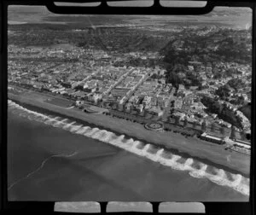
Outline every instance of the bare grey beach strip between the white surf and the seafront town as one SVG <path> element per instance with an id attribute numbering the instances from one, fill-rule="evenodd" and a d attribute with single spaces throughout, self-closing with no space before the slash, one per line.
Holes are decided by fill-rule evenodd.
<path id="1" fill-rule="evenodd" d="M 143 125 L 123 119 L 117 120 L 103 114 L 83 113 L 73 108 L 61 108 L 53 104 L 40 102 L 37 99 L 30 99 L 26 95 L 17 96 L 9 93 L 8 97 L 20 105 L 38 109 L 41 113 L 42 111 L 53 113 L 56 116 L 73 119 L 81 124 L 86 123 L 92 127 L 97 126 L 100 129 L 112 131 L 117 135 L 125 135 L 127 139 L 134 138 L 144 143 L 148 142 L 157 148 L 165 148 L 174 154 L 181 155 L 183 158 L 192 158 L 230 173 L 241 174 L 244 177 L 249 177 L 250 174 L 249 158 L 245 158 L 241 154 L 227 152 L 215 143 L 204 142 L 195 137 L 183 137 L 181 134 L 172 132 L 148 131 Z M 233 161 L 226 160 L 226 156 L 232 156 L 231 160 Z"/>

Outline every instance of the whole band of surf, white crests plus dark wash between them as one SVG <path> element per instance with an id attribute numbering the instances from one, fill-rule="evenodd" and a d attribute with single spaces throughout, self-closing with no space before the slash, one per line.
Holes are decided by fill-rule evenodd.
<path id="1" fill-rule="evenodd" d="M 173 170 L 188 171 L 191 177 L 205 178 L 212 181 L 212 183 L 235 189 L 243 195 L 249 195 L 249 178 L 243 177 L 241 174 L 233 174 L 223 169 L 209 166 L 193 158 L 183 159 L 179 154 L 173 154 L 166 150 L 166 148 L 156 148 L 154 144 L 127 138 L 125 135 L 117 135 L 116 133 L 102 130 L 98 127 L 84 126 L 78 124 L 75 120 L 38 113 L 10 100 L 8 105 L 9 110 L 27 119 L 58 127 L 76 135 L 83 135 L 101 142 L 106 142 L 115 147 L 123 148 L 132 154 L 137 154 L 148 160 L 158 162 L 162 166 L 170 167 Z"/>

